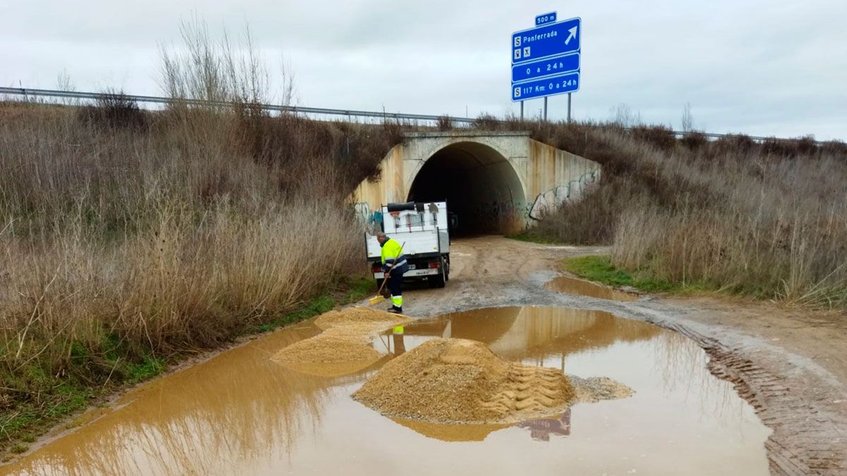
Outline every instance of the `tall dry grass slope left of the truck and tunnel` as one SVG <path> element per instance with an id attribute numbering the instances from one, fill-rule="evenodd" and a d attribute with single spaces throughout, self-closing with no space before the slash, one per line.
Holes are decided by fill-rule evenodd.
<path id="1" fill-rule="evenodd" d="M 0 452 L 362 273 L 346 196 L 396 125 L 271 117 L 249 55 L 197 45 L 222 69 L 171 58 L 165 89 L 235 106 L 0 102 Z"/>

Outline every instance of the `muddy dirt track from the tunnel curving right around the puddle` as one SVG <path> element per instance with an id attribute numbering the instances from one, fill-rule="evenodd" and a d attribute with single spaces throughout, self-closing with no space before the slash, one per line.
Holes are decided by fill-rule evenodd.
<path id="1" fill-rule="evenodd" d="M 454 241 L 446 288 L 407 291 L 404 310 L 425 317 L 473 307 L 584 307 L 675 329 L 710 354 L 712 373 L 733 382 L 773 429 L 772 473 L 847 473 L 847 314 L 701 297 L 609 302 L 543 287 L 562 258 L 602 251 L 495 236 Z"/>

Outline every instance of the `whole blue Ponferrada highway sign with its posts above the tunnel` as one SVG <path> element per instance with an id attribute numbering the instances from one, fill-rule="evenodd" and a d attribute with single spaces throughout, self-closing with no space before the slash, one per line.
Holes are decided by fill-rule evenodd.
<path id="1" fill-rule="evenodd" d="M 512 101 L 523 102 L 567 93 L 567 120 L 571 94 L 579 91 L 582 19 L 556 21 L 556 12 L 535 17 L 535 27 L 512 33 Z"/>

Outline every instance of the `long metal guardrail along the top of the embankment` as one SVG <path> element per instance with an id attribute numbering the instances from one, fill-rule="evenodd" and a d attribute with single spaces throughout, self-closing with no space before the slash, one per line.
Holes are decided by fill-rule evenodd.
<path id="1" fill-rule="evenodd" d="M 30 89 L 24 87 L 0 87 L 0 94 L 14 94 L 17 96 L 24 97 L 67 97 L 71 99 L 108 99 L 110 97 L 115 97 L 119 95 L 121 97 L 126 97 L 135 102 L 142 103 L 151 103 L 151 104 L 169 104 L 173 102 L 181 102 L 185 104 L 191 105 L 206 105 L 206 106 L 231 106 L 232 102 L 213 102 L 213 101 L 204 101 L 200 99 L 174 99 L 171 97 L 157 97 L 157 96 L 137 96 L 134 94 L 124 94 L 121 92 L 118 93 L 109 93 L 109 92 L 77 92 L 77 91 L 58 91 L 53 89 Z M 306 114 L 326 114 L 326 115 L 335 115 L 335 116 L 346 116 L 347 118 L 352 117 L 362 117 L 362 118 L 379 118 L 379 119 L 407 119 L 407 120 L 422 120 L 422 121 L 438 121 L 440 119 L 450 119 L 453 124 L 464 124 L 471 125 L 476 119 L 473 118 L 462 118 L 462 117 L 454 117 L 454 116 L 444 116 L 444 115 L 430 115 L 430 114 L 407 114 L 407 113 L 387 113 L 387 112 L 376 112 L 376 111 L 358 111 L 354 109 L 329 109 L 329 108 L 306 108 L 302 106 L 285 106 L 281 104 L 260 104 L 260 107 L 266 111 L 279 111 L 285 113 L 306 113 Z M 624 128 L 624 130 L 633 130 L 633 128 L 628 127 Z M 673 135 L 677 137 L 684 137 L 689 132 L 683 130 L 673 130 Z M 739 134 L 715 134 L 711 132 L 700 132 L 699 134 L 710 138 L 710 139 L 719 139 L 721 137 L 733 137 L 739 136 Z M 746 135 L 745 135 L 746 136 Z M 773 139 L 778 139 L 779 141 L 800 141 L 801 139 L 791 138 L 791 139 L 779 139 L 776 137 L 763 137 L 763 136 L 746 136 L 749 137 L 753 141 L 769 141 Z M 814 141 L 816 144 L 823 144 L 823 141 Z"/>

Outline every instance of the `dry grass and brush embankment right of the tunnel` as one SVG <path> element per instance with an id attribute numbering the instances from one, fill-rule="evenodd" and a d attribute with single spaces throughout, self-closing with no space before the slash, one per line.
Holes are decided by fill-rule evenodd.
<path id="1" fill-rule="evenodd" d="M 810 137 L 673 139 L 666 127 L 521 123 L 602 164 L 601 183 L 529 235 L 612 244 L 622 268 L 813 307 L 847 306 L 847 146 Z"/>

